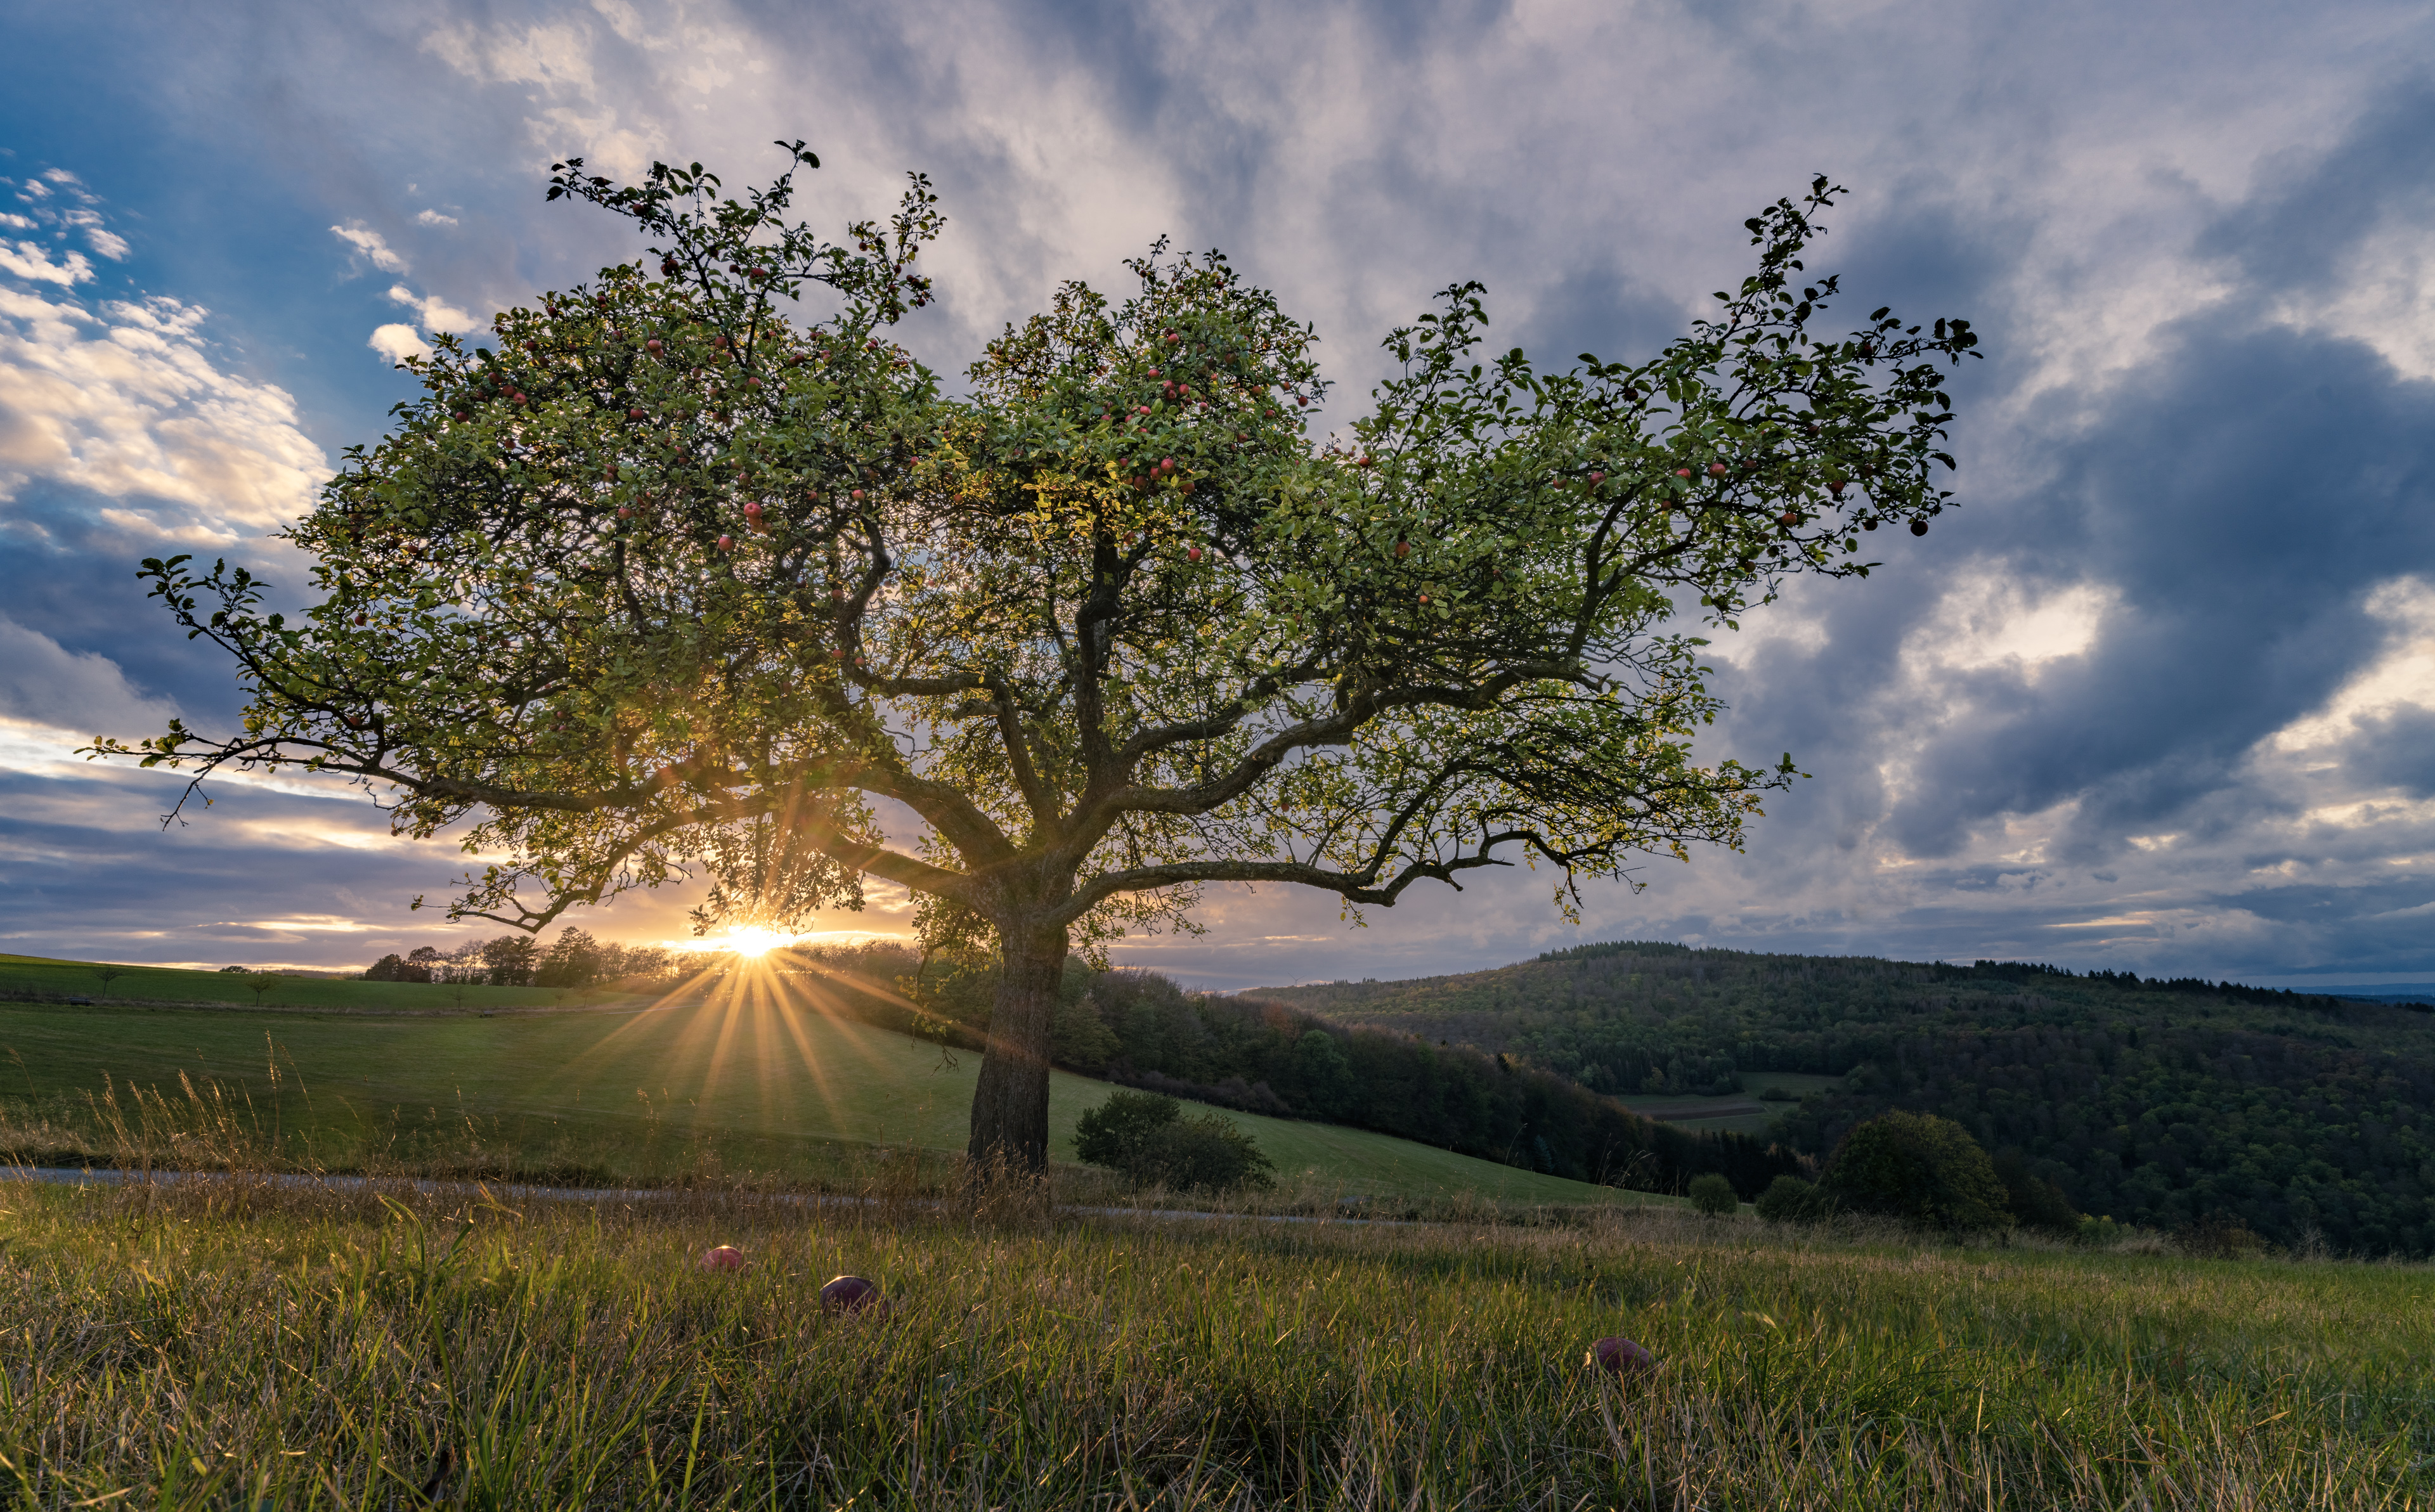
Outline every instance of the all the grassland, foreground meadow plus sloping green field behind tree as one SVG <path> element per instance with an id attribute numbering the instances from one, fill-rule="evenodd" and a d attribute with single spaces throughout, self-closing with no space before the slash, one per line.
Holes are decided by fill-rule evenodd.
<path id="1" fill-rule="evenodd" d="M 12 1159 L 209 1171 L 0 1188 L 7 1505 L 2435 1497 L 2425 1266 L 1778 1227 L 1249 1115 L 1281 1183 L 1227 1213 L 1071 1164 L 974 1195 L 976 1057 L 801 981 L 314 986 L 377 996 L 0 1003 Z M 1057 1076 L 1062 1161 L 1105 1091 Z M 835 1273 L 886 1312 L 823 1317 Z M 1585 1366 L 1607 1334 L 1658 1368 Z"/>

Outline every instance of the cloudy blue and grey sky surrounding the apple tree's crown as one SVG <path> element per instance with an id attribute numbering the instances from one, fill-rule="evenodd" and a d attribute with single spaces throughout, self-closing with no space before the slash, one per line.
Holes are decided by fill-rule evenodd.
<path id="1" fill-rule="evenodd" d="M 1700 755 L 1812 777 L 1748 847 L 1575 925 L 1500 874 L 1339 918 L 1213 889 L 1120 959 L 1210 989 L 1463 971 L 1583 940 L 2041 959 L 2282 986 L 2435 976 L 2435 7 L 869 0 L 0 2 L 0 950 L 360 967 L 472 930 L 455 842 L 363 794 L 73 755 L 226 728 L 144 558 L 275 533 L 433 329 L 638 251 L 545 205 L 823 161 L 937 183 L 959 373 L 1166 234 L 1317 326 L 1332 419 L 1449 282 L 1500 343 L 1644 358 L 1829 173 L 1846 314 L 1960 314 L 1960 509 L 1714 650 Z M 682 889 L 577 918 L 682 940 Z M 903 933 L 874 896 L 823 933 Z M 489 933 L 489 930 L 485 930 Z M 828 937 L 828 935 L 823 935 Z"/>

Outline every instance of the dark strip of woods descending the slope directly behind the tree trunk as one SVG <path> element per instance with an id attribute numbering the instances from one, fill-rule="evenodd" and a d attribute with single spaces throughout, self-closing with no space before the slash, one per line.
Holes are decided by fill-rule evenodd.
<path id="1" fill-rule="evenodd" d="M 886 947 L 782 952 L 772 962 L 808 979 L 813 1001 L 950 1047 L 976 1047 L 989 1025 L 986 962 L 923 964 Z M 1687 1135 L 1515 1057 L 1347 1027 L 1283 1003 L 1186 993 L 1152 971 L 1069 964 L 1054 1059 L 1123 1086 L 1342 1122 L 1605 1186 L 1683 1191 L 1717 1171 L 1751 1198 L 1804 1169 L 1763 1139 Z"/>

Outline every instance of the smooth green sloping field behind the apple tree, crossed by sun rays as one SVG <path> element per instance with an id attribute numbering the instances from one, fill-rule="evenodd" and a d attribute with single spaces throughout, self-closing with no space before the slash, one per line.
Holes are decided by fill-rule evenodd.
<path id="1" fill-rule="evenodd" d="M 90 1154 L 88 1093 L 134 1086 L 170 1093 L 168 1105 L 144 1103 L 153 1118 L 146 1152 L 170 1164 L 823 1183 L 860 1178 L 872 1149 L 962 1149 L 976 1069 L 969 1052 L 947 1057 L 935 1045 L 782 1006 L 772 979 L 752 976 L 670 1008 L 497 1018 L 0 1003 L 0 1103 L 15 1105 L 0 1142 L 24 1159 Z M 212 1113 L 185 1096 L 180 1076 L 246 1105 Z M 1108 1091 L 1054 1074 L 1057 1159 L 1071 1159 L 1074 1120 Z M 122 1091 L 117 1105 L 141 1132 L 136 1101 Z M 1429 1203 L 1461 1193 L 1502 1203 L 1624 1200 L 1364 1130 L 1227 1118 L 1259 1139 L 1305 1203 Z M 224 1127 L 229 1120 L 244 1127 Z M 205 1132 L 207 1122 L 217 1132 Z M 229 1149 L 214 1149 L 214 1137 Z"/>

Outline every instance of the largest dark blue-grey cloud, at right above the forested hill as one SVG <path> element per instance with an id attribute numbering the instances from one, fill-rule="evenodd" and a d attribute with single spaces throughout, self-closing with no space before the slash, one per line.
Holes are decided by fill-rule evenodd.
<path id="1" fill-rule="evenodd" d="M 1982 679 L 1897 818 L 1919 855 L 2075 796 L 2087 859 L 2167 823 L 2384 648 L 2374 584 L 2435 567 L 2435 385 L 2350 341 L 2174 331 L 2060 446 L 2055 485 L 2004 506 L 2011 560 L 2101 575 L 2118 609 L 2036 687 Z"/>

